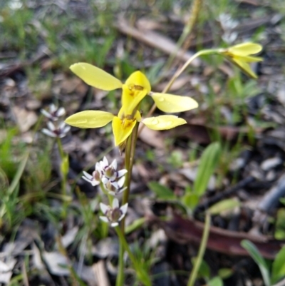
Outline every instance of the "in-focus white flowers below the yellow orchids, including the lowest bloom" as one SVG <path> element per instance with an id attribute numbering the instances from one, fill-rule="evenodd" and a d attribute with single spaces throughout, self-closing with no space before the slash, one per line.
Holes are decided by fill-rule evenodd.
<path id="1" fill-rule="evenodd" d="M 128 172 L 125 169 L 117 170 L 117 168 L 117 160 L 113 160 L 113 162 L 109 164 L 107 158 L 104 157 L 102 161 L 96 163 L 92 175 L 83 171 L 82 178 L 93 186 L 102 183 L 103 189 L 108 195 L 115 196 L 126 189 L 126 187 L 124 187 L 125 173 Z M 127 213 L 128 203 L 120 207 L 118 199 L 113 198 L 112 206 L 100 203 L 100 209 L 104 214 L 104 216 L 100 216 L 100 219 L 115 227 Z"/>

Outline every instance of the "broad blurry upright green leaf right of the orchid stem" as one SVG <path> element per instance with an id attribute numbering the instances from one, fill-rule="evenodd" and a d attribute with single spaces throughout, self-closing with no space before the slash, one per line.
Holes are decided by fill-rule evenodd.
<path id="1" fill-rule="evenodd" d="M 221 146 L 219 142 L 214 142 L 207 146 L 200 159 L 197 178 L 194 183 L 194 191 L 197 195 L 201 196 L 207 189 L 209 178 L 214 173 L 214 169 L 219 163 L 221 156 Z"/>

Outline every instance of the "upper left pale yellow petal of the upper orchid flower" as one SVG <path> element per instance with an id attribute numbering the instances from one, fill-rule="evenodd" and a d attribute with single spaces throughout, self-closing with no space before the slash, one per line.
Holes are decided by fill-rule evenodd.
<path id="1" fill-rule="evenodd" d="M 71 66 L 71 71 L 90 86 L 103 89 L 103 91 L 113 91 L 122 87 L 122 83 L 118 78 L 89 63 L 74 63 Z"/>

